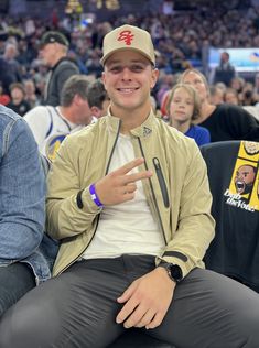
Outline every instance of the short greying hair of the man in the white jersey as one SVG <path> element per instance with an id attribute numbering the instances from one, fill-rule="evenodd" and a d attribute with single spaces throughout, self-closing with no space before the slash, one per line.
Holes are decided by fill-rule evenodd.
<path id="1" fill-rule="evenodd" d="M 69 107 L 75 95 L 78 95 L 84 100 L 88 100 L 89 80 L 86 75 L 73 75 L 64 84 L 61 93 L 61 106 Z"/>

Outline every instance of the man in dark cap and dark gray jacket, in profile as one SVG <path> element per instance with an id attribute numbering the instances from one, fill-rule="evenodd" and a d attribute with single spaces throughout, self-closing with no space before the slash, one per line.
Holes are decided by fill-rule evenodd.
<path id="1" fill-rule="evenodd" d="M 61 90 L 65 81 L 79 74 L 74 61 L 67 57 L 68 40 L 60 32 L 46 32 L 40 43 L 40 57 L 50 67 L 44 91 L 44 105 L 56 107 L 61 104 Z"/>

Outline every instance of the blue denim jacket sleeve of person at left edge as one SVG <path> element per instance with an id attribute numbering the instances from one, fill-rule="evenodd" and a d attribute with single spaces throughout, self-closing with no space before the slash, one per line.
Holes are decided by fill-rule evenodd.
<path id="1" fill-rule="evenodd" d="M 39 247 L 45 222 L 45 177 L 22 119 L 6 128 L 0 163 L 0 259 L 21 260 Z"/>

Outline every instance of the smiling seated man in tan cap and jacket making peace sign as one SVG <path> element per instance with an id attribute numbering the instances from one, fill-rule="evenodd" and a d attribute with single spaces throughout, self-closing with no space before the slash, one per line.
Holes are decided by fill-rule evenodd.
<path id="1" fill-rule="evenodd" d="M 258 348 L 258 294 L 204 269 L 206 166 L 152 111 L 150 34 L 116 28 L 102 51 L 108 115 L 67 137 L 48 174 L 54 278 L 7 312 L 0 347 L 108 347 L 134 327 L 176 347 Z"/>

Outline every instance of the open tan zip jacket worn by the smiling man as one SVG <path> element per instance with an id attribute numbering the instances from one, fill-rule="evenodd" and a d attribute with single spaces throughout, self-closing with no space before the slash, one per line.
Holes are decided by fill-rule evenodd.
<path id="1" fill-rule="evenodd" d="M 107 174 L 119 127 L 118 118 L 104 117 L 68 135 L 57 152 L 46 203 L 47 232 L 61 240 L 53 275 L 80 259 L 95 235 L 101 208 L 91 200 L 89 185 Z M 179 264 L 185 276 L 204 267 L 202 259 L 214 237 L 204 160 L 192 139 L 152 112 L 131 138 L 136 157 L 145 159 L 142 170 L 153 172 L 143 188 L 166 246 L 157 264 L 161 259 Z"/>

